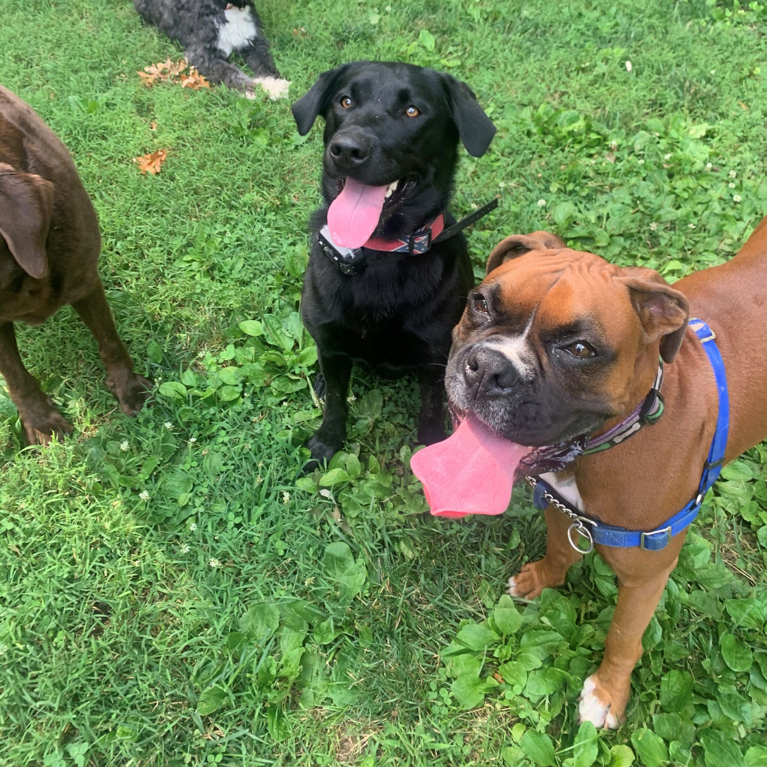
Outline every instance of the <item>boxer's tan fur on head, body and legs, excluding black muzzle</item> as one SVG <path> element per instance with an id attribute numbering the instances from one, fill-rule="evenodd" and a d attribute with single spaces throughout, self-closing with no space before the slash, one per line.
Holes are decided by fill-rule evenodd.
<path id="1" fill-rule="evenodd" d="M 612 416 L 594 430 L 600 433 L 619 423 L 647 395 L 660 351 L 673 360 L 665 366 L 666 407 L 660 420 L 611 449 L 581 456 L 555 477 L 570 498 L 580 496 L 588 515 L 608 525 L 644 531 L 659 527 L 696 495 L 718 412 L 713 370 L 686 325 L 688 301 L 690 316 L 705 320 L 715 331 L 726 366 L 731 407 L 726 461 L 767 438 L 765 222 L 731 261 L 683 278 L 673 288 L 649 269 L 610 265 L 596 255 L 565 248 L 546 232 L 507 238 L 492 253 L 490 273 L 476 294 L 494 302 L 487 306 L 496 313 L 492 327 L 479 327 L 470 297 L 454 332 L 446 377 L 450 396 L 461 390 L 459 353 L 478 339 L 503 334 L 509 324 L 518 332 L 525 318 L 535 314 L 531 343 L 546 367 L 550 355 L 540 344 L 547 333 L 588 318 L 597 346 L 600 339 L 611 344 L 614 360 L 596 376 L 582 374 L 568 382 L 575 386 L 573 382 L 580 381 L 585 397 L 601 399 L 605 415 Z M 476 295 L 473 300 L 480 300 Z M 513 430 L 504 436 L 514 439 Z M 511 594 L 532 599 L 544 588 L 559 586 L 580 558 L 568 543 L 571 521 L 551 506 L 545 518 L 546 555 L 510 579 Z M 618 597 L 601 666 L 581 693 L 582 720 L 617 727 L 624 719 L 631 671 L 642 654 L 642 634 L 684 538 L 685 532 L 676 535 L 662 551 L 597 546 L 617 574 Z"/>

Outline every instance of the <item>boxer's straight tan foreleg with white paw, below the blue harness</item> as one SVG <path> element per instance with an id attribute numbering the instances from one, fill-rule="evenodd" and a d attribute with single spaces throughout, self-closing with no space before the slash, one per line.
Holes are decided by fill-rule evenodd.
<path id="1" fill-rule="evenodd" d="M 682 537 L 684 537 L 682 535 Z M 618 600 L 610 630 L 604 640 L 604 657 L 600 667 L 584 682 L 578 714 L 582 722 L 596 727 L 617 729 L 625 719 L 631 690 L 631 672 L 642 657 L 642 635 L 652 620 L 669 574 L 676 565 L 680 545 L 670 552 L 673 560 L 661 551 L 612 549 L 600 554 L 618 575 Z M 671 546 L 669 548 L 672 548 Z M 610 552 L 610 553 L 608 553 Z M 614 560 L 620 552 L 630 568 L 624 570 Z M 631 559 L 634 561 L 630 561 Z"/>

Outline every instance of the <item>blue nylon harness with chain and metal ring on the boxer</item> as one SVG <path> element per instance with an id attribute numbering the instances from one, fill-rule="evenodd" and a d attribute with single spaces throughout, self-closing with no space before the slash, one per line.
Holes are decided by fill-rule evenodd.
<path id="1" fill-rule="evenodd" d="M 546 509 L 549 505 L 564 512 L 574 519 L 568 531 L 570 543 L 577 551 L 588 553 L 594 548 L 594 544 L 612 546 L 614 548 L 644 548 L 647 551 L 660 551 L 666 548 L 671 538 L 688 527 L 700 511 L 700 505 L 709 488 L 716 482 L 719 472 L 724 463 L 724 454 L 727 446 L 727 433 L 729 431 L 729 396 L 727 393 L 727 376 L 724 368 L 722 355 L 716 346 L 716 334 L 709 326 L 699 319 L 690 319 L 690 328 L 703 344 L 703 349 L 709 357 L 716 378 L 716 391 L 719 395 L 719 413 L 716 417 L 716 431 L 711 440 L 711 447 L 706 463 L 703 464 L 703 474 L 700 477 L 698 493 L 684 509 L 673 515 L 659 528 L 650 532 L 640 530 L 627 530 L 626 528 L 605 525 L 597 519 L 585 515 L 561 498 L 560 495 L 544 480 L 528 478 L 533 485 L 533 502 L 538 509 Z M 588 525 L 588 527 L 587 527 Z M 588 549 L 583 549 L 571 537 L 572 531 L 578 532 L 590 542 Z"/>

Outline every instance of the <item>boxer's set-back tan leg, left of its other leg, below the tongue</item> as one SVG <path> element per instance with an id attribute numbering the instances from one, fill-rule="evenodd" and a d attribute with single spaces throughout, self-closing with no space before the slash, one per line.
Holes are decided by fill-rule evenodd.
<path id="1" fill-rule="evenodd" d="M 572 520 L 554 506 L 549 506 L 544 515 L 546 555 L 543 559 L 522 565 L 522 570 L 509 578 L 506 593 L 512 597 L 535 599 L 545 588 L 561 586 L 565 583 L 568 569 L 581 559 L 568 540 Z"/>

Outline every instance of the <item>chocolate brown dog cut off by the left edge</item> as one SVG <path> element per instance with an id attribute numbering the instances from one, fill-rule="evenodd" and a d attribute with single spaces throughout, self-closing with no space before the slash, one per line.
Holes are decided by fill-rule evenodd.
<path id="1" fill-rule="evenodd" d="M 13 323 L 38 325 L 72 304 L 94 334 L 124 413 L 152 384 L 133 373 L 97 272 L 96 212 L 64 145 L 27 104 L 0 86 L 0 374 L 28 442 L 72 427 L 21 362 Z"/>

